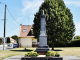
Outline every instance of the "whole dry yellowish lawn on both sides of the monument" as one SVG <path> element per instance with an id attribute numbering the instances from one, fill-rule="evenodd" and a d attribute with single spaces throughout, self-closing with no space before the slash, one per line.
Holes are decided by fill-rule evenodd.
<path id="1" fill-rule="evenodd" d="M 36 48 L 26 48 L 30 50 L 35 50 Z M 50 48 L 51 49 L 51 48 Z M 15 48 L 12 50 L 0 51 L 0 60 L 3 60 L 6 57 L 14 56 L 14 55 L 25 55 L 30 50 L 24 51 L 24 48 Z M 55 51 L 59 51 L 61 56 L 78 56 L 80 57 L 80 47 L 57 47 L 54 48 Z"/>

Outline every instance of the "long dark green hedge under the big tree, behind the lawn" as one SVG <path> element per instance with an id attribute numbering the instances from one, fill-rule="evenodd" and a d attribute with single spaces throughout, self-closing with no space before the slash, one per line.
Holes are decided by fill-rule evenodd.
<path id="1" fill-rule="evenodd" d="M 52 42 L 48 42 L 49 47 L 52 47 Z M 80 47 L 80 39 L 71 40 L 67 43 L 61 43 L 56 41 L 54 47 Z"/>

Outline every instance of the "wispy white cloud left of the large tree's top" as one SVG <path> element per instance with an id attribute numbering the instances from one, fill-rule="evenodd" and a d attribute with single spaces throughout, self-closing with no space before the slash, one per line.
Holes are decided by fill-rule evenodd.
<path id="1" fill-rule="evenodd" d="M 18 17 L 16 21 L 19 22 L 22 19 L 26 20 L 26 17 L 29 17 L 29 19 L 32 18 L 32 21 L 34 18 L 34 14 L 38 11 L 39 6 L 42 2 L 43 0 L 22 0 L 23 8 L 20 9 L 20 17 Z"/>

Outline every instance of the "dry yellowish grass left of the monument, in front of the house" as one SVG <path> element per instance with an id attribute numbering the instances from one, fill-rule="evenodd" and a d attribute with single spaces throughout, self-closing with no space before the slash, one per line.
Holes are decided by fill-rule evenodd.
<path id="1" fill-rule="evenodd" d="M 36 48 L 28 48 L 30 50 L 35 50 Z M 12 50 L 0 51 L 0 60 L 3 60 L 6 57 L 14 56 L 14 55 L 25 55 L 29 51 L 24 51 L 24 48 L 16 48 Z"/>

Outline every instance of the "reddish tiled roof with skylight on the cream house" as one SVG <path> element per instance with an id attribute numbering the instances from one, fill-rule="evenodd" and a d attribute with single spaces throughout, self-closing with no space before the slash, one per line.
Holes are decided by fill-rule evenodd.
<path id="1" fill-rule="evenodd" d="M 32 25 L 20 25 L 20 35 L 19 35 L 19 37 L 32 36 L 31 35 L 31 28 L 32 28 Z"/>

